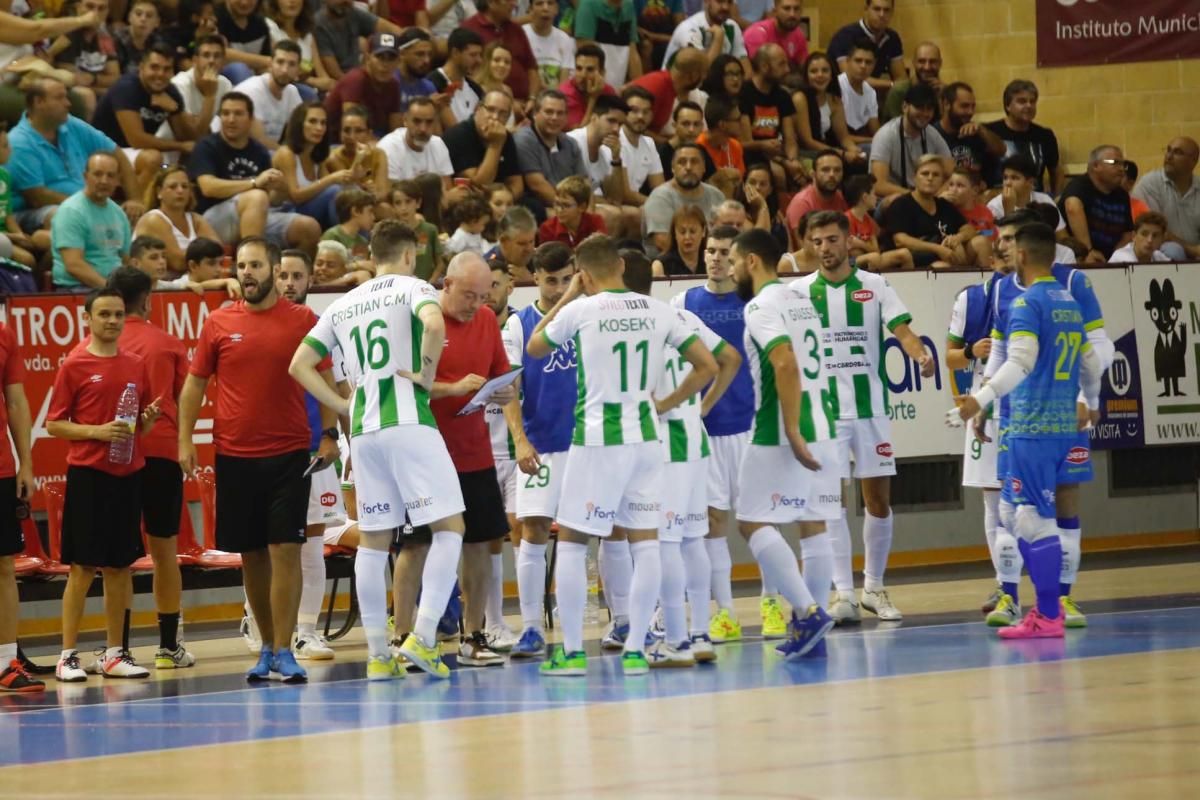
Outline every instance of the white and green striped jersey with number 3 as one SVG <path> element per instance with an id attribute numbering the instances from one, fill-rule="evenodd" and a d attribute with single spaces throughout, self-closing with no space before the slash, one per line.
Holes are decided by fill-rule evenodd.
<path id="1" fill-rule="evenodd" d="M 785 287 L 779 281 L 768 283 L 746 303 L 745 319 L 755 399 L 750 444 L 787 444 L 775 368 L 769 357 L 781 344 L 791 345 L 800 371 L 800 435 L 805 441 L 833 439 L 833 398 L 821 356 L 821 319 L 803 289 Z"/>

